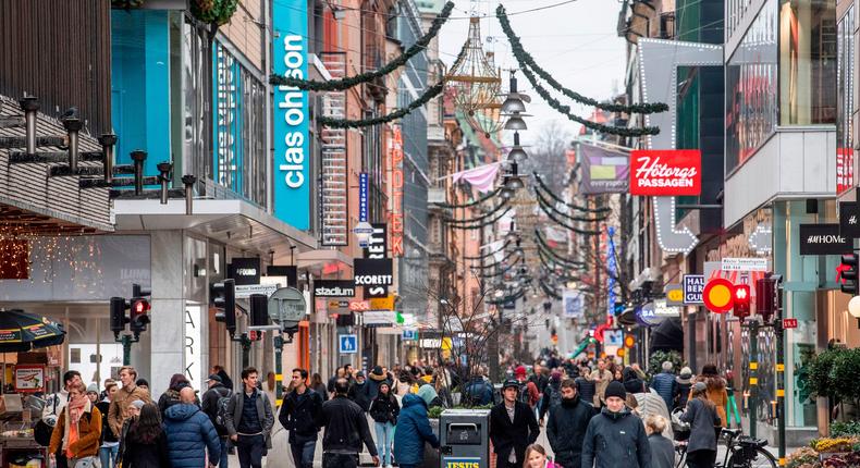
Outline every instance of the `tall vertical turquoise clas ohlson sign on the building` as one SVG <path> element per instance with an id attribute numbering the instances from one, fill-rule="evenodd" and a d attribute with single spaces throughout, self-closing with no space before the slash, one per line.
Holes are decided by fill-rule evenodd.
<path id="1" fill-rule="evenodd" d="M 279 75 L 308 75 L 306 0 L 272 3 L 274 57 Z M 299 230 L 310 227 L 308 94 L 292 86 L 274 89 L 274 215 Z"/>

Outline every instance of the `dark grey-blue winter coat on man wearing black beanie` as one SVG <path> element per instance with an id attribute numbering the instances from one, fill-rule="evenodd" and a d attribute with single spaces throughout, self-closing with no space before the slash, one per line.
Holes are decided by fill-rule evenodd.
<path id="1" fill-rule="evenodd" d="M 582 443 L 581 468 L 651 468 L 651 446 L 644 424 L 624 408 L 603 408 L 591 418 Z"/>

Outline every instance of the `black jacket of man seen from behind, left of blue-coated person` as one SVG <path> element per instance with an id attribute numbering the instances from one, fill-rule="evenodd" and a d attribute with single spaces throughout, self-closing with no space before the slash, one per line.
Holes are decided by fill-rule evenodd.
<path id="1" fill-rule="evenodd" d="M 361 452 L 364 442 L 371 456 L 378 455 L 365 411 L 344 395 L 334 395 L 334 398 L 322 404 L 317 426 L 325 428 L 322 435 L 323 451 L 357 454 Z"/>

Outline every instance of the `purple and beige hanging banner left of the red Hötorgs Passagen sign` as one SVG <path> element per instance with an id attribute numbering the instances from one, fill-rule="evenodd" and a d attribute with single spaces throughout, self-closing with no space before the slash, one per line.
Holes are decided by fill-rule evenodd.
<path id="1" fill-rule="evenodd" d="M 579 193 L 626 194 L 629 187 L 630 160 L 627 155 L 591 145 L 579 145 L 582 180 Z"/>

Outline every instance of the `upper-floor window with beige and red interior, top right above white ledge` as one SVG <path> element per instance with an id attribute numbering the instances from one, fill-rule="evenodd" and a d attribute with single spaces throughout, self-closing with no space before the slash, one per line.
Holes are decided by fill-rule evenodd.
<path id="1" fill-rule="evenodd" d="M 779 123 L 836 122 L 836 1 L 779 2 Z"/>

